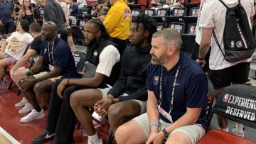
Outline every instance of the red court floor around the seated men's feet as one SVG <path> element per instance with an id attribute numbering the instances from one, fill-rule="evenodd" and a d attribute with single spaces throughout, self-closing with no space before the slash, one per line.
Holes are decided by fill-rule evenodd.
<path id="1" fill-rule="evenodd" d="M 14 137 L 19 143 L 29 144 L 31 139 L 35 138 L 43 132 L 43 128 L 46 124 L 46 118 L 41 118 L 28 123 L 20 123 L 20 119 L 24 115 L 18 114 L 18 110 L 21 108 L 16 108 L 14 104 L 21 101 L 21 96 L 16 96 L 17 87 L 15 84 L 12 85 L 10 90 L 0 90 L 0 127 Z M 48 111 L 45 111 L 46 116 Z M 107 143 L 109 125 L 99 126 L 97 128 L 97 133 L 102 138 L 104 143 Z M 53 143 L 48 142 L 46 144 Z M 82 136 L 81 129 L 75 130 L 74 133 L 74 143 L 75 144 L 86 144 L 87 137 Z"/>

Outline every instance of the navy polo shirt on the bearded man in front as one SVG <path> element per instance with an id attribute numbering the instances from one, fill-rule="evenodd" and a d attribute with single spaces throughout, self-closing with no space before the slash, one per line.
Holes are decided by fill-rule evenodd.
<path id="1" fill-rule="evenodd" d="M 183 53 L 174 68 L 167 71 L 161 65 L 153 65 L 149 63 L 147 71 L 147 84 L 148 90 L 154 92 L 156 99 L 159 101 L 159 84 L 160 77 L 162 77 L 162 102 L 161 108 L 167 113 L 170 110 L 171 92 L 174 84 L 174 76 L 179 68 L 178 77 L 174 87 L 174 108 L 171 111 L 173 122 L 186 113 L 186 108 L 201 107 L 202 111 L 198 121 L 204 128 L 206 128 L 206 106 L 207 106 L 207 93 L 208 81 L 205 72 L 197 62 L 186 57 Z M 161 76 L 161 70 L 163 74 Z M 171 123 L 168 119 L 160 113 L 160 118 L 167 123 Z"/>

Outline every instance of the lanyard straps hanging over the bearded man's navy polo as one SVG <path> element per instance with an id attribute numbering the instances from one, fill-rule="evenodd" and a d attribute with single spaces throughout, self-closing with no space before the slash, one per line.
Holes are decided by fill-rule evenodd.
<path id="1" fill-rule="evenodd" d="M 171 91 L 171 105 L 170 105 L 169 114 L 171 113 L 171 110 L 174 107 L 174 90 L 175 90 L 175 85 L 176 85 L 176 81 L 178 78 L 178 72 L 179 72 L 180 68 L 181 68 L 181 66 L 178 66 L 178 69 L 176 70 L 176 74 L 174 75 L 174 82 L 172 84 L 172 91 Z M 161 67 L 160 84 L 159 84 L 159 106 L 161 106 L 161 102 L 162 102 L 162 76 L 163 76 L 163 68 Z"/>

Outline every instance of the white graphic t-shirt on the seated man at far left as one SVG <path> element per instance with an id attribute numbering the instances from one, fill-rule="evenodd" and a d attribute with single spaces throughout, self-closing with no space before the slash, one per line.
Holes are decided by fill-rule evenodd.
<path id="1" fill-rule="evenodd" d="M 8 45 L 5 48 L 5 52 L 16 60 L 19 60 L 28 45 L 31 45 L 33 37 L 29 33 L 18 33 L 18 31 L 11 33 L 11 35 L 6 39 Z"/>

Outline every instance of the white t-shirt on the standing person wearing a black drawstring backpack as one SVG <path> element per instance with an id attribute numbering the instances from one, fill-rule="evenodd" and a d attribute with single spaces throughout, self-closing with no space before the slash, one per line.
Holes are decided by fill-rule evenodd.
<path id="1" fill-rule="evenodd" d="M 233 7 L 238 4 L 238 0 L 223 0 L 223 2 L 228 7 Z M 250 16 L 253 16 L 254 5 L 253 0 L 241 0 L 241 5 L 245 9 L 248 17 L 248 21 L 250 21 Z M 226 8 L 223 4 L 218 0 L 207 0 L 205 4 L 203 4 L 203 9 L 201 11 L 201 18 L 199 22 L 199 27 L 201 28 L 213 28 L 215 34 L 217 36 L 218 42 L 220 43 L 220 47 L 223 49 L 223 32 L 225 26 L 225 13 Z M 202 35 L 203 36 L 203 35 Z M 224 51 L 224 49 L 223 49 Z M 210 70 L 222 70 L 227 67 L 231 67 L 240 62 L 250 62 L 251 58 L 240 60 L 238 62 L 230 63 L 226 61 L 223 57 L 223 54 L 218 48 L 218 45 L 215 42 L 215 39 L 211 38 L 211 50 L 210 50 L 210 59 L 209 59 L 209 67 Z"/>

